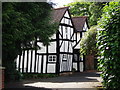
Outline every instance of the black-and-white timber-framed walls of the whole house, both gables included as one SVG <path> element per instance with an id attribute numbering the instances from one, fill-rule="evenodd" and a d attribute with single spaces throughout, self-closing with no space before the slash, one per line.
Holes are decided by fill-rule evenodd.
<path id="1" fill-rule="evenodd" d="M 18 55 L 16 63 L 20 72 L 59 74 L 71 72 L 73 68 L 83 71 L 83 68 L 80 68 L 83 64 L 79 62 L 78 51 L 84 32 L 75 30 L 68 7 L 55 9 L 54 12 L 59 12 L 53 17 L 55 20 L 59 19 L 59 30 L 51 37 L 50 45 L 44 46 L 37 39 L 36 44 L 41 49 L 23 50 L 22 55 Z M 83 29 L 88 29 L 86 22 L 84 24 Z"/>

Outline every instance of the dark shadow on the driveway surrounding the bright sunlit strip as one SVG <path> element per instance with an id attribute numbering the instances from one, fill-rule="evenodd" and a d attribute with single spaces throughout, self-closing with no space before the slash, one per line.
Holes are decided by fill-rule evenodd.
<path id="1" fill-rule="evenodd" d="M 23 80 L 21 82 L 9 82 L 5 84 L 4 90 L 52 90 L 50 88 L 44 88 L 44 87 L 33 87 L 33 86 L 24 86 L 24 84 L 29 83 L 37 83 L 37 82 L 43 82 L 43 83 L 71 83 L 71 82 L 99 82 L 97 78 L 99 77 L 99 74 L 96 74 L 96 72 L 84 72 L 84 73 L 74 73 L 71 75 L 66 76 L 59 76 L 54 78 L 46 78 L 46 79 L 32 79 L 32 80 Z M 57 90 L 57 89 L 55 89 Z"/>

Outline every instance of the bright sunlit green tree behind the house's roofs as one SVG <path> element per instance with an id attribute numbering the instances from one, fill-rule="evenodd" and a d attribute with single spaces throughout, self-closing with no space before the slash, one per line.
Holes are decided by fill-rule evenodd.
<path id="1" fill-rule="evenodd" d="M 97 25 L 101 18 L 102 8 L 106 2 L 73 2 L 68 4 L 73 16 L 88 16 L 89 25 Z"/>

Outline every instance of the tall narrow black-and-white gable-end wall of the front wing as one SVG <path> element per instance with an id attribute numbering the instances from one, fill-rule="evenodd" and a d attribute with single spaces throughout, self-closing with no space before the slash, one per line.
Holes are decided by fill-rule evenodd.
<path id="1" fill-rule="evenodd" d="M 68 11 L 60 25 L 60 72 L 72 71 L 74 28 Z"/>

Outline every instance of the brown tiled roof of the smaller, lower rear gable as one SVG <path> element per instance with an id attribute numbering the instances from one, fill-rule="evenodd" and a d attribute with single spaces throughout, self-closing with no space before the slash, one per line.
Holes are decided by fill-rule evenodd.
<path id="1" fill-rule="evenodd" d="M 85 22 L 87 22 L 87 16 L 72 17 L 76 31 L 83 31 Z M 87 22 L 88 26 L 88 22 Z M 88 26 L 89 28 L 89 26 Z"/>

